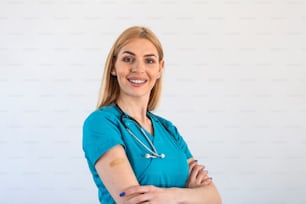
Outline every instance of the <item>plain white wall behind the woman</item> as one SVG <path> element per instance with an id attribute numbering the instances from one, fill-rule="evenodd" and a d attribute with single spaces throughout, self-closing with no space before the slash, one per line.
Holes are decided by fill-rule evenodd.
<path id="1" fill-rule="evenodd" d="M 1 0 L 0 203 L 98 203 L 81 149 L 131 25 L 166 53 L 158 113 L 229 204 L 306 203 L 306 1 Z"/>

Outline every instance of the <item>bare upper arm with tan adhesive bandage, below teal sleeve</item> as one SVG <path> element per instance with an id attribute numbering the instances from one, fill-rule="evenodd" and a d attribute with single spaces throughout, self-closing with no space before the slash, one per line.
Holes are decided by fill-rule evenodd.
<path id="1" fill-rule="evenodd" d="M 95 168 L 116 203 L 124 201 L 124 198 L 119 196 L 122 191 L 130 186 L 139 185 L 121 145 L 114 146 L 100 157 Z"/>

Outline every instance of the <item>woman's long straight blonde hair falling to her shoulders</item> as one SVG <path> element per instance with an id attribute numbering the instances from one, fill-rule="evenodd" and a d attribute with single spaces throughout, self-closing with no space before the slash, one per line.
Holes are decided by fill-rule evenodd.
<path id="1" fill-rule="evenodd" d="M 111 75 L 111 71 L 114 68 L 114 64 L 116 62 L 116 57 L 123 46 L 125 46 L 130 40 L 135 38 L 141 38 L 149 40 L 157 49 L 159 55 L 159 62 L 164 58 L 164 52 L 162 49 L 162 45 L 158 40 L 157 36 L 148 28 L 133 26 L 121 33 L 121 35 L 117 38 L 114 45 L 112 46 L 106 62 L 103 73 L 103 79 L 101 83 L 101 88 L 99 92 L 99 99 L 97 104 L 97 109 L 107 106 L 110 104 L 116 103 L 116 100 L 119 97 L 120 87 L 117 81 L 117 77 Z M 157 79 L 154 87 L 151 90 L 149 102 L 148 102 L 148 110 L 154 110 L 161 96 L 162 89 L 162 77 Z"/>

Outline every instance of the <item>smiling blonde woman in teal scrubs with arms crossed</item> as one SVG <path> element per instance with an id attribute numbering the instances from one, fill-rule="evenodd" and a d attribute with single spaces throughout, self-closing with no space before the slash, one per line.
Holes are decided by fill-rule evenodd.
<path id="1" fill-rule="evenodd" d="M 101 203 L 221 203 L 176 127 L 150 112 L 160 99 L 163 57 L 155 34 L 137 26 L 110 50 L 97 110 L 83 126 Z"/>

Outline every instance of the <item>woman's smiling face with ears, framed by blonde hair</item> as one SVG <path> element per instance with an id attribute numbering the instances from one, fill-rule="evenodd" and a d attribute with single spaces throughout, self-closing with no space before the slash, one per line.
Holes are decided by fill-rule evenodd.
<path id="1" fill-rule="evenodd" d="M 111 74 L 117 77 L 121 99 L 148 100 L 163 69 L 156 47 L 149 40 L 136 38 L 121 48 Z"/>

